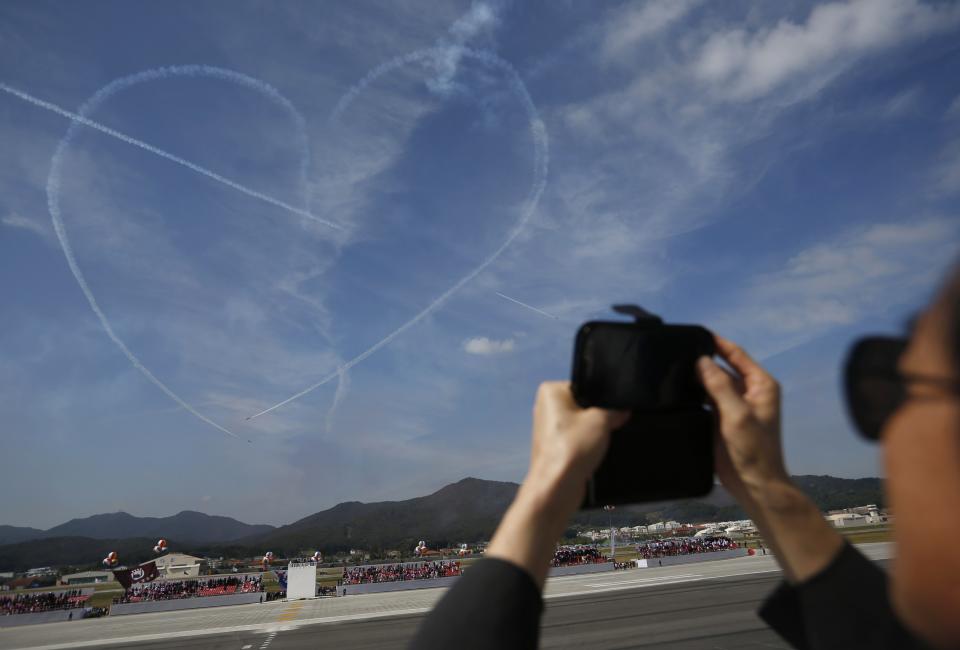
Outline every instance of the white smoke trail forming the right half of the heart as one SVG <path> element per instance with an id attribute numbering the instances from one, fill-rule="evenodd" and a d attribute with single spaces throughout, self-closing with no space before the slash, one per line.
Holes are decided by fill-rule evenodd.
<path id="1" fill-rule="evenodd" d="M 270 406 L 259 413 L 255 413 L 248 417 L 248 420 L 258 418 L 261 415 L 266 415 L 271 411 L 289 404 L 290 402 L 297 400 L 307 393 L 310 393 L 317 388 L 320 388 L 326 383 L 337 378 L 341 370 L 349 370 L 358 363 L 365 360 L 370 355 L 374 354 L 381 348 L 386 345 L 389 345 L 395 338 L 403 334 L 405 331 L 419 323 L 423 320 L 428 314 L 436 310 L 440 305 L 442 305 L 446 300 L 455 294 L 457 291 L 462 289 L 464 285 L 473 280 L 475 277 L 480 275 L 488 266 L 493 264 L 493 262 L 500 257 L 500 255 L 507 249 L 507 247 L 513 243 L 513 240 L 520 235 L 521 231 L 526 227 L 527 223 L 530 221 L 530 218 L 533 216 L 534 211 L 537 209 L 537 204 L 540 202 L 540 196 L 543 194 L 543 190 L 547 185 L 547 167 L 549 165 L 549 150 L 548 150 L 548 141 L 547 141 L 547 130 L 543 124 L 543 121 L 540 119 L 540 115 L 537 112 L 537 108 L 533 103 L 533 99 L 530 97 L 530 93 L 527 90 L 526 85 L 523 83 L 523 79 L 520 78 L 520 75 L 517 73 L 516 69 L 507 61 L 501 59 L 499 56 L 493 52 L 488 52 L 486 50 L 475 50 L 472 48 L 462 47 L 460 55 L 464 58 L 474 59 L 480 63 L 486 64 L 492 68 L 499 69 L 507 75 L 508 82 L 511 89 L 514 91 L 514 94 L 517 96 L 517 99 L 520 101 L 524 110 L 527 113 L 529 118 L 529 128 L 530 135 L 533 139 L 533 181 L 530 185 L 529 193 L 527 198 L 524 201 L 523 208 L 521 209 L 520 218 L 517 220 L 517 223 L 514 224 L 513 228 L 510 230 L 507 238 L 480 264 L 474 267 L 473 270 L 469 271 L 465 276 L 460 278 L 452 287 L 444 291 L 437 298 L 433 300 L 429 305 L 427 305 L 423 310 L 416 314 L 413 318 L 408 320 L 406 323 L 398 327 L 396 330 L 382 338 L 380 341 L 369 347 L 364 352 L 361 352 L 359 355 L 345 363 L 340 367 L 336 372 L 333 372 L 326 377 L 320 379 L 320 381 L 312 384 L 302 391 L 291 395 L 287 399 Z M 346 110 L 346 108 L 353 102 L 354 99 L 374 80 L 378 77 L 395 70 L 403 65 L 407 65 L 412 62 L 417 63 L 432 63 L 436 60 L 438 56 L 445 56 L 449 50 L 449 47 L 443 48 L 426 48 L 423 50 L 417 50 L 403 56 L 399 56 L 395 59 L 391 59 L 386 63 L 378 65 L 376 68 L 371 70 L 367 75 L 361 79 L 357 84 L 350 88 L 344 96 L 337 102 L 336 108 L 334 108 L 333 114 L 330 116 L 331 121 L 335 121 L 339 116 Z"/>

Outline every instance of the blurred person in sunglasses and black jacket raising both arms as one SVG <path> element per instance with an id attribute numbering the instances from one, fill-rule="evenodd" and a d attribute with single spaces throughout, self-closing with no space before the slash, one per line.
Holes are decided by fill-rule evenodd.
<path id="1" fill-rule="evenodd" d="M 861 432 L 882 443 L 897 517 L 889 578 L 790 480 L 776 380 L 743 349 L 716 340 L 730 369 L 704 357 L 698 372 L 718 413 L 717 475 L 784 575 L 761 618 L 796 648 L 960 648 L 960 267 L 909 340 L 874 346 L 867 363 L 858 365 L 856 354 L 848 361 L 848 406 Z M 610 432 L 628 417 L 580 408 L 566 382 L 540 386 L 517 496 L 486 558 L 434 607 L 411 647 L 537 646 L 556 540 Z"/>

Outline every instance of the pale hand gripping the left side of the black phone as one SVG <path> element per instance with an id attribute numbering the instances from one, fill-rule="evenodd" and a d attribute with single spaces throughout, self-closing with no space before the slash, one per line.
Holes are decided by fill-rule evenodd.
<path id="1" fill-rule="evenodd" d="M 540 384 L 533 407 L 533 444 L 528 482 L 557 491 L 563 501 L 579 504 L 587 480 L 603 460 L 610 432 L 623 426 L 628 412 L 581 408 L 573 399 L 570 383 Z M 567 505 L 567 504 L 564 504 Z"/>

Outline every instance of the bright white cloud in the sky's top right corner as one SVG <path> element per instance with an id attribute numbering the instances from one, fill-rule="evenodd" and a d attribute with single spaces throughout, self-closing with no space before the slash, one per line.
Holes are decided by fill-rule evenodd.
<path id="1" fill-rule="evenodd" d="M 727 98 L 749 100 L 800 77 L 822 84 L 861 55 L 949 30 L 958 21 L 956 4 L 834 2 L 814 8 L 802 24 L 782 20 L 756 33 L 735 29 L 714 34 L 694 72 Z"/>

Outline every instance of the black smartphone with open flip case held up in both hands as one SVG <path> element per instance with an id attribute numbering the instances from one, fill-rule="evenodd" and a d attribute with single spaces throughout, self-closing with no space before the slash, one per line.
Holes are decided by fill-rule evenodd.
<path id="1" fill-rule="evenodd" d="M 715 352 L 707 329 L 666 325 L 656 317 L 580 328 L 574 399 L 583 407 L 631 411 L 590 479 L 584 508 L 710 492 L 715 423 L 695 364 Z"/>

